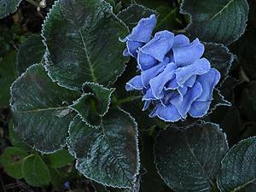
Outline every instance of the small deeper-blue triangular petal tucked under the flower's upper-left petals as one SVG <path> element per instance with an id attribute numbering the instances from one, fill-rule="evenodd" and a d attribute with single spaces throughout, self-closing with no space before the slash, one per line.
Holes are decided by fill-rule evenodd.
<path id="1" fill-rule="evenodd" d="M 137 55 L 137 64 L 138 68 L 143 71 L 154 67 L 158 64 L 158 61 L 154 59 L 153 56 L 144 54 L 143 52 L 139 51 Z"/>

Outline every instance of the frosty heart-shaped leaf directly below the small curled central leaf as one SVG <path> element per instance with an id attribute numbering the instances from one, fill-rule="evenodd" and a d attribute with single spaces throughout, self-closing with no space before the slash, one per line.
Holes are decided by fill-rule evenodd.
<path id="1" fill-rule="evenodd" d="M 137 124 L 129 113 L 110 110 L 96 129 L 77 116 L 69 134 L 67 146 L 85 177 L 107 186 L 133 187 L 140 164 Z"/>

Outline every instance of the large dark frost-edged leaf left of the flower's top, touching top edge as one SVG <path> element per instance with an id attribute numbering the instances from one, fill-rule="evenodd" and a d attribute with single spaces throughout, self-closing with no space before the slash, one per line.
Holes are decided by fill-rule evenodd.
<path id="1" fill-rule="evenodd" d="M 128 30 L 102 0 L 56 1 L 43 35 L 49 76 L 61 86 L 81 89 L 84 82 L 108 85 L 125 69 L 122 55 Z"/>

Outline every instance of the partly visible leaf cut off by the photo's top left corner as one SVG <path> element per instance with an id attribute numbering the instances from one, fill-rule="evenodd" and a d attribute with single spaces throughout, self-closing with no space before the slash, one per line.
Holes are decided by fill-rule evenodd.
<path id="1" fill-rule="evenodd" d="M 0 19 L 15 13 L 22 0 L 0 0 Z"/>

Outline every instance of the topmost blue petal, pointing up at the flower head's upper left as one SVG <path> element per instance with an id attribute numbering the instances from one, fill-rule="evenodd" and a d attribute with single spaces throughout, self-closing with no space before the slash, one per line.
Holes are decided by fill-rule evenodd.
<path id="1" fill-rule="evenodd" d="M 150 15 L 148 18 L 143 18 L 140 20 L 132 29 L 130 35 L 128 35 L 123 41 L 130 40 L 130 41 L 137 41 L 148 43 L 152 36 L 152 32 L 154 30 L 154 26 L 156 25 L 156 17 L 155 15 Z"/>

